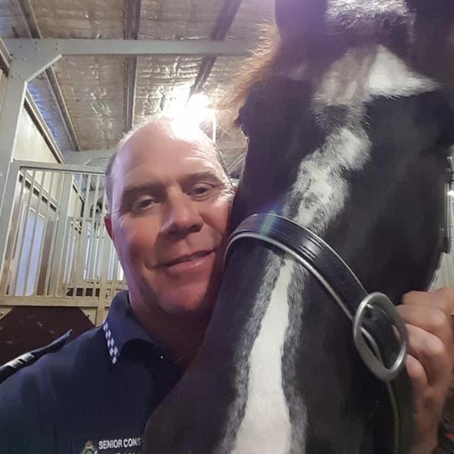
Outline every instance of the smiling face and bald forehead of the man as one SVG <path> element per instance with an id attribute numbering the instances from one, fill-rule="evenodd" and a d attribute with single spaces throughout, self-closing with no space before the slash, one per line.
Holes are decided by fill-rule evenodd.
<path id="1" fill-rule="evenodd" d="M 169 124 L 137 131 L 112 168 L 106 226 L 131 300 L 169 314 L 210 310 L 233 191 L 214 151 Z"/>

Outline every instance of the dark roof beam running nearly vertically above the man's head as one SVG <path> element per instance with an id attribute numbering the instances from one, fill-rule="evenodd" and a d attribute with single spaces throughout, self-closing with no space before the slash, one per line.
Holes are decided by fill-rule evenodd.
<path id="1" fill-rule="evenodd" d="M 140 14 L 142 0 L 126 0 L 126 24 L 124 27 L 124 39 L 137 40 L 140 33 Z M 137 60 L 138 57 L 126 57 L 124 76 L 124 110 L 125 130 L 129 131 L 134 122 L 136 110 L 136 87 L 137 87 Z"/>

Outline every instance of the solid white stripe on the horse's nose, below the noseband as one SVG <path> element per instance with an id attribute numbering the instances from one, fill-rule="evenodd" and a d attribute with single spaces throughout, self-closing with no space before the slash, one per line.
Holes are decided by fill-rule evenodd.
<path id="1" fill-rule="evenodd" d="M 293 260 L 285 258 L 251 349 L 246 410 L 237 432 L 235 454 L 285 454 L 290 448 L 291 421 L 282 387 L 281 360 L 292 271 Z"/>

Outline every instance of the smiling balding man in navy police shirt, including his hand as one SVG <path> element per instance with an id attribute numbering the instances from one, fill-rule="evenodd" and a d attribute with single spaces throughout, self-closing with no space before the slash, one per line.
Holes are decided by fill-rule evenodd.
<path id="1" fill-rule="evenodd" d="M 105 174 L 105 225 L 128 291 L 101 327 L 0 384 L 2 454 L 138 454 L 147 418 L 203 340 L 234 192 L 217 150 L 199 129 L 155 119 L 120 142 Z M 418 410 L 412 454 L 429 454 L 453 366 L 454 293 L 403 302 Z"/>

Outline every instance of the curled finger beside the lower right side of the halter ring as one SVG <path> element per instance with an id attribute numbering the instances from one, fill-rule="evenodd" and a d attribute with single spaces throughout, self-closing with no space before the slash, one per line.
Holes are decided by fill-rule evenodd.
<path id="1" fill-rule="evenodd" d="M 451 361 L 446 346 L 439 337 L 418 326 L 407 325 L 409 331 L 409 353 L 416 358 L 425 370 L 427 383 L 437 386 L 446 381 L 450 374 Z"/>

